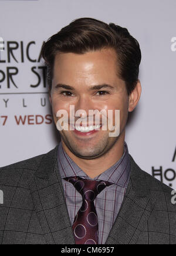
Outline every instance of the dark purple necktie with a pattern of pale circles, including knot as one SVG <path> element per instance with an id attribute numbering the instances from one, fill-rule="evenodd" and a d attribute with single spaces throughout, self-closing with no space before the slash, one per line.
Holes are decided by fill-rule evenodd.
<path id="1" fill-rule="evenodd" d="M 73 221 L 73 233 L 76 244 L 99 244 L 99 222 L 94 198 L 107 186 L 109 181 L 87 180 L 81 177 L 66 177 L 83 197 L 82 207 Z"/>

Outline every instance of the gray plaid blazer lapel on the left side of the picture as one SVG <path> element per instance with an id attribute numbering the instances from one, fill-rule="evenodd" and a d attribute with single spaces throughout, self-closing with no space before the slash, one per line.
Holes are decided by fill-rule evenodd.
<path id="1" fill-rule="evenodd" d="M 30 180 L 36 214 L 48 244 L 75 244 L 57 166 L 57 148 L 43 156 Z"/>

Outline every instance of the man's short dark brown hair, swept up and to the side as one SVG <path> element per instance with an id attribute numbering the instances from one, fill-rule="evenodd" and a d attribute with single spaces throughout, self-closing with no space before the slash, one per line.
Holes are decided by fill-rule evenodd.
<path id="1" fill-rule="evenodd" d="M 113 48 L 117 53 L 119 78 L 126 83 L 128 95 L 138 81 L 141 50 L 138 41 L 126 28 L 93 18 L 79 18 L 62 28 L 43 43 L 42 57 L 47 66 L 49 92 L 52 89 L 53 66 L 57 53 L 84 54 L 90 51 Z"/>

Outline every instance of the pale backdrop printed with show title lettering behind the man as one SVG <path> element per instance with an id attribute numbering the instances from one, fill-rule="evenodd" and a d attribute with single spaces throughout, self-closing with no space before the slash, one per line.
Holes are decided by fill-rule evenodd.
<path id="1" fill-rule="evenodd" d="M 138 39 L 143 87 L 126 142 L 141 169 L 176 188 L 176 1 L 0 0 L 0 167 L 59 143 L 43 41 L 82 17 L 114 22 Z"/>

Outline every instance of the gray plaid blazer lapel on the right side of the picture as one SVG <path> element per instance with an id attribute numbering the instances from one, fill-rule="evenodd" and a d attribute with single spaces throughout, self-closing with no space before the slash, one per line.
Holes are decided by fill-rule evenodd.
<path id="1" fill-rule="evenodd" d="M 130 160 L 130 181 L 106 244 L 136 244 L 155 205 L 144 171 L 137 166 L 131 156 Z"/>

